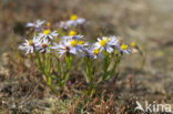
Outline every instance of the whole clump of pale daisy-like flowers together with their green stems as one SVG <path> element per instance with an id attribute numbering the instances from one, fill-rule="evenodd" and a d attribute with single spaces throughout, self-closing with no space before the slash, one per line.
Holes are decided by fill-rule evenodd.
<path id="1" fill-rule="evenodd" d="M 96 42 L 89 43 L 84 40 L 84 35 L 78 34 L 73 30 L 67 33 L 67 29 L 83 27 L 85 23 L 85 19 L 78 18 L 75 14 L 70 20 L 61 21 L 59 28 L 57 28 L 58 31 L 52 29 L 50 22 L 38 20 L 35 23 L 27 23 L 27 27 L 34 28 L 34 37 L 31 40 L 26 40 L 19 49 L 24 50 L 26 54 L 35 53 L 37 65 L 45 75 L 48 85 L 51 85 L 52 79 L 57 77 L 57 75 L 51 73 L 52 64 L 59 68 L 54 72 L 59 74 L 57 77 L 58 84 L 62 86 L 70 79 L 73 55 L 78 55 L 82 56 L 81 59 L 85 62 L 85 80 L 92 90 L 100 83 L 95 79 L 96 71 L 94 70 L 93 60 L 102 59 L 103 64 L 100 74 L 102 75 L 102 81 L 105 81 L 115 74 L 116 66 L 124 53 L 132 53 L 133 49 L 139 50 L 135 42 L 132 42 L 131 46 L 129 46 L 115 35 L 98 38 Z M 59 61 L 55 61 L 53 63 L 52 51 L 58 52 L 55 56 L 62 58 L 64 55 L 65 62 L 59 63 Z M 41 53 L 42 55 L 40 56 Z M 113 61 L 111 61 L 112 59 Z M 109 68 L 111 63 L 113 63 L 113 66 Z"/>

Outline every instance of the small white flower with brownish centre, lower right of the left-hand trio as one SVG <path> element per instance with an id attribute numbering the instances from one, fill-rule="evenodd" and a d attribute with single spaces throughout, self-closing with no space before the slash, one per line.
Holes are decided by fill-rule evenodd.
<path id="1" fill-rule="evenodd" d="M 37 50 L 40 52 L 50 52 L 50 43 L 48 39 L 43 39 L 42 42 L 38 43 Z"/>

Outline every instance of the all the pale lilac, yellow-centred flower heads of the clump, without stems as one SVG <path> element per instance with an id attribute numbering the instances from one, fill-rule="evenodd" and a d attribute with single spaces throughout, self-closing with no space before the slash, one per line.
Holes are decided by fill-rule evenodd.
<path id="1" fill-rule="evenodd" d="M 69 25 L 80 25 L 85 23 L 85 19 L 78 18 L 75 14 L 71 17 L 71 20 L 68 20 L 63 23 L 60 22 L 61 28 L 68 28 Z M 27 53 L 33 53 L 35 51 L 40 52 L 50 52 L 50 50 L 57 50 L 60 54 L 60 58 L 64 53 L 78 54 L 81 56 L 90 56 L 96 59 L 98 56 L 104 58 L 102 54 L 103 51 L 113 53 L 114 50 L 119 50 L 122 54 L 132 53 L 131 49 L 121 42 L 114 35 L 98 38 L 98 41 L 93 44 L 89 44 L 83 40 L 84 35 L 77 34 L 75 31 L 70 31 L 68 35 L 61 37 L 59 43 L 54 43 L 53 39 L 58 38 L 59 33 L 57 31 L 51 31 L 49 28 L 43 29 L 45 21 L 38 20 L 35 23 L 29 22 L 27 27 L 34 27 L 38 30 L 41 30 L 38 35 L 34 35 L 32 40 L 26 40 L 26 42 L 19 46 L 21 50 L 26 50 Z M 49 25 L 49 23 L 47 23 Z M 135 42 L 132 42 L 132 46 L 135 46 Z"/>

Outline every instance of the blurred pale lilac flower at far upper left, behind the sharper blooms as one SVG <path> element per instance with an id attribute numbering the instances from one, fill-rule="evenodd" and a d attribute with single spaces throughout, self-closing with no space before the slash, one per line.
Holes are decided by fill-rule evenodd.
<path id="1" fill-rule="evenodd" d="M 45 21 L 37 20 L 37 22 L 28 22 L 26 27 L 29 28 L 35 28 L 38 30 L 42 29 L 42 24 L 44 24 Z"/>

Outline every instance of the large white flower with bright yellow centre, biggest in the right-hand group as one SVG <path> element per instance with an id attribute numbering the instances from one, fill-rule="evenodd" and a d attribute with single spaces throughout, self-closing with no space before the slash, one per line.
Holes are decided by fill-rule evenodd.
<path id="1" fill-rule="evenodd" d="M 113 48 L 111 46 L 110 38 L 109 37 L 102 37 L 102 39 L 99 39 L 98 38 L 98 42 L 94 43 L 94 46 L 96 49 L 100 49 L 101 51 L 102 50 L 105 50 L 109 53 L 112 53 L 113 52 Z"/>

